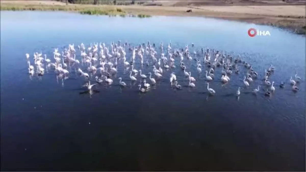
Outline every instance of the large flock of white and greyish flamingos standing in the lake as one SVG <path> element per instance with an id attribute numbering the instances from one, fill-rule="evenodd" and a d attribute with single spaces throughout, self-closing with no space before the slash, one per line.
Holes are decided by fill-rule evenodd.
<path id="1" fill-rule="evenodd" d="M 194 47 L 194 44 L 192 43 L 191 46 Z M 230 82 L 232 73 L 238 74 L 245 72 L 243 83 L 247 88 L 250 86 L 250 83 L 258 77 L 258 73 L 252 68 L 252 65 L 241 59 L 240 55 L 238 55 L 237 58 L 233 58 L 229 54 L 221 53 L 218 50 L 211 51 L 208 48 L 201 48 L 197 52 L 190 52 L 188 45 L 186 45 L 185 48 L 172 49 L 171 43 L 168 44 L 167 48 L 164 48 L 163 43 L 161 43 L 160 46 L 155 46 L 154 43 L 151 45 L 150 42 L 148 42 L 147 44 L 143 43 L 133 47 L 129 43 L 121 43 L 121 41 L 118 41 L 118 43 L 112 42 L 110 44 L 110 49 L 106 47 L 105 43 L 101 42 L 91 43 L 88 48 L 85 48 L 83 43 L 77 47 L 78 50 L 80 50 L 80 60 L 76 59 L 74 44 L 69 44 L 68 49 L 65 49 L 62 54 L 58 52 L 58 48 L 55 48 L 53 52 L 53 62 L 47 58 L 46 54 L 44 54 L 43 58 L 42 52 L 35 52 L 34 65 L 31 65 L 29 59 L 30 55 L 26 54 L 30 77 L 33 75 L 39 77 L 43 76 L 45 73 L 44 65 L 46 65 L 46 69 L 53 68 L 56 77 L 61 78 L 62 81 L 63 79 L 67 79 L 72 73 L 84 77 L 86 84 L 82 85 L 82 87 L 87 87 L 88 91 L 91 92 L 91 89 L 97 84 L 103 82 L 112 84 L 112 77 L 118 74 L 117 67 L 122 65 L 125 68 L 125 72 L 129 73 L 131 83 L 136 83 L 137 79 L 140 78 L 140 84 L 138 85 L 138 90 L 140 92 L 149 91 L 151 86 L 156 84 L 156 80 L 164 78 L 164 70 L 170 71 L 170 86 L 176 89 L 182 89 L 182 86 L 178 84 L 175 73 L 171 72 L 171 70 L 176 67 L 175 61 L 179 61 L 180 63 L 177 63 L 177 65 L 179 64 L 181 68 L 181 76 L 185 75 L 189 80 L 188 87 L 191 88 L 196 87 L 196 79 L 191 76 L 190 71 L 188 72 L 186 70 L 194 66 L 200 74 L 202 73 L 202 68 L 206 68 L 205 80 L 207 81 L 207 91 L 210 95 L 215 95 L 216 93 L 214 89 L 209 88 L 209 83 L 218 80 L 214 75 L 217 69 L 221 70 L 220 81 L 223 84 Z M 155 48 L 159 48 L 161 52 L 160 55 L 157 54 Z M 129 53 L 131 54 L 129 61 L 126 59 L 126 51 L 131 52 Z M 195 65 L 192 65 L 192 61 L 195 61 Z M 134 64 L 141 64 L 141 68 L 143 68 L 144 65 L 146 65 L 148 69 L 151 67 L 152 72 L 147 73 L 149 77 L 142 73 L 141 69 L 135 69 Z M 245 68 L 244 71 L 240 69 L 241 66 Z M 267 87 L 264 89 L 264 95 L 266 96 L 270 96 L 275 92 L 274 81 L 272 83 L 270 82 L 270 77 L 274 71 L 275 68 L 272 65 L 264 71 L 263 84 Z M 155 78 L 152 77 L 152 73 Z M 96 75 L 94 77 L 95 81 L 92 80 L 94 75 Z M 149 79 L 151 82 L 147 83 L 146 79 Z M 91 84 L 91 81 L 96 83 Z M 122 81 L 121 77 L 118 78 L 118 81 L 120 86 L 126 87 L 127 84 Z M 294 92 L 299 90 L 296 84 L 300 81 L 301 78 L 297 76 L 297 72 L 295 78 L 290 78 L 290 84 Z M 279 87 L 284 88 L 285 84 L 282 82 Z M 240 89 L 241 87 L 238 87 L 236 92 L 237 96 L 240 95 Z M 256 95 L 259 92 L 259 86 L 253 89 L 252 92 Z"/>

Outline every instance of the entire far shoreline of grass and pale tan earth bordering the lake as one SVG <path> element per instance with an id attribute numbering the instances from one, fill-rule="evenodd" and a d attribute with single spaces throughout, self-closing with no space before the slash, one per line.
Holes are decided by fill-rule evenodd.
<path id="1" fill-rule="evenodd" d="M 39 2 L 39 3 L 34 3 Z M 41 3 L 46 2 L 46 3 Z M 49 3 L 50 2 L 50 3 Z M 269 25 L 296 34 L 306 35 L 305 6 L 141 6 L 141 5 L 81 5 L 57 1 L 0 1 L 1 11 L 39 10 L 74 11 L 89 15 L 119 15 L 121 17 L 182 16 L 208 17 Z M 49 4 L 48 4 L 49 3 Z M 192 12 L 186 11 L 192 9 Z"/>

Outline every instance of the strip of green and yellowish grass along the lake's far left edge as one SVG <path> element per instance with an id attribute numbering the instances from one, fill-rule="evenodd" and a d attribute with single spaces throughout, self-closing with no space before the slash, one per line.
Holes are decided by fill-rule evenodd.
<path id="1" fill-rule="evenodd" d="M 80 6 L 80 5 L 22 5 L 22 4 L 1 4 L 1 11 L 74 11 L 80 14 L 87 15 L 108 15 L 108 16 L 120 16 L 120 17 L 139 17 L 146 18 L 151 15 L 146 14 L 132 14 L 126 13 L 122 8 L 115 8 L 114 6 Z"/>

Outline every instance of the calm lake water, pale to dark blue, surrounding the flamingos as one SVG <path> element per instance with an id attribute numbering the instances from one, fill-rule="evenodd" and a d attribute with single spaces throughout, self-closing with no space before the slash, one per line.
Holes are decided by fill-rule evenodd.
<path id="1" fill-rule="evenodd" d="M 249 28 L 271 36 L 249 37 Z M 184 58 L 196 87 L 176 68 L 146 94 L 130 86 L 129 73 L 118 61 L 111 86 L 96 85 L 93 95 L 80 94 L 84 78 L 73 72 L 56 80 L 49 69 L 42 80 L 29 78 L 25 54 L 42 51 L 53 59 L 54 48 L 93 42 L 132 45 L 171 40 L 173 48 L 191 52 L 209 47 L 238 54 L 259 73 L 244 87 L 246 69 L 221 86 L 216 68 L 208 97 L 205 70 Z M 194 43 L 194 47 L 191 47 Z M 156 50 L 158 51 L 158 48 Z M 80 51 L 77 50 L 80 60 Z M 127 53 L 130 59 L 131 53 Z M 158 58 L 160 53 L 158 51 Z M 61 12 L 1 11 L 1 170 L 305 170 L 305 37 L 233 21 L 199 17 L 120 18 Z M 200 58 L 203 61 L 203 58 Z M 213 59 L 213 57 L 212 57 Z M 146 61 L 146 57 L 144 62 Z M 275 93 L 264 96 L 264 69 L 273 64 Z M 140 63 L 135 63 L 140 69 Z M 82 69 L 86 69 L 82 66 Z M 152 72 L 146 65 L 147 75 Z M 175 72 L 182 90 L 169 84 Z M 295 71 L 302 78 L 294 93 Z M 118 86 L 118 77 L 128 84 Z M 93 77 L 94 78 L 94 77 Z M 285 88 L 279 88 L 283 81 Z M 94 81 L 92 81 L 94 82 Z M 150 83 L 150 80 L 147 79 Z M 251 92 L 261 86 L 258 95 Z M 241 87 L 239 101 L 235 97 Z"/>

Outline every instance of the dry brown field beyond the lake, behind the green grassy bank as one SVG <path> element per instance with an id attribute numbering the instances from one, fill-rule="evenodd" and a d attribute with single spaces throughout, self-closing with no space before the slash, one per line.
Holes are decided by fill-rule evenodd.
<path id="1" fill-rule="evenodd" d="M 33 6 L 66 6 L 65 1 L 21 1 L 1 0 L 1 5 L 33 5 Z M 93 2 L 93 1 L 92 1 Z M 106 2 L 106 1 L 100 1 Z M 112 3 L 112 1 L 109 1 Z M 132 1 L 117 1 L 129 3 Z M 141 2 L 141 5 L 138 4 Z M 87 3 L 89 3 L 87 1 Z M 165 15 L 165 16 L 201 16 L 226 20 L 237 20 L 256 24 L 268 24 L 305 33 L 305 3 L 303 0 L 181 0 L 181 1 L 136 1 L 136 5 L 116 5 L 123 11 L 133 14 Z M 137 5 L 138 4 L 138 5 Z M 110 8 L 114 5 L 69 4 L 68 6 L 84 6 L 86 8 Z M 192 9 L 191 13 L 186 10 Z M 303 28 L 304 27 L 304 28 Z"/>

